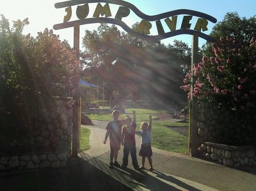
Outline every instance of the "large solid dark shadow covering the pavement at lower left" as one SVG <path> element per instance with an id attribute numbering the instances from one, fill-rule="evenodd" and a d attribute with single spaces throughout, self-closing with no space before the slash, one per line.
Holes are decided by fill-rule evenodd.
<path id="1" fill-rule="evenodd" d="M 45 169 L 0 178 L 3 191 L 131 191 L 84 159 L 67 168 Z M 25 170 L 24 170 L 25 172 Z"/>

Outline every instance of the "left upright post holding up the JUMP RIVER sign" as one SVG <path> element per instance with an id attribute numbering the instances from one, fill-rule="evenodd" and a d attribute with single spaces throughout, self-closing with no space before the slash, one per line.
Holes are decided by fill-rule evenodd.
<path id="1" fill-rule="evenodd" d="M 74 50 L 77 51 L 77 55 L 79 55 L 79 32 L 80 25 L 76 23 L 74 25 Z M 78 77 L 78 81 L 79 81 Z M 73 100 L 73 132 L 72 132 L 72 157 L 78 156 L 78 131 L 79 131 L 79 119 L 78 119 L 78 110 L 79 110 L 79 86 L 76 84 L 76 92 L 74 93 Z"/>

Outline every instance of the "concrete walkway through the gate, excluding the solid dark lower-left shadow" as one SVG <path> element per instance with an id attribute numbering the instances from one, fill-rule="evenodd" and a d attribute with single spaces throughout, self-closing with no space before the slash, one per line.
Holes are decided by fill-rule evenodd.
<path id="1" fill-rule="evenodd" d="M 256 171 L 247 173 L 186 155 L 152 148 L 155 171 L 134 170 L 129 158 L 129 169 L 109 169 L 109 145 L 102 142 L 107 122 L 93 121 L 90 148 L 81 157 L 115 180 L 136 191 L 255 191 Z M 136 136 L 137 150 L 140 138 Z M 137 151 L 138 153 L 138 151 Z M 122 148 L 118 161 L 122 164 Z M 141 164 L 141 157 L 138 156 Z M 148 162 L 146 161 L 148 168 Z"/>

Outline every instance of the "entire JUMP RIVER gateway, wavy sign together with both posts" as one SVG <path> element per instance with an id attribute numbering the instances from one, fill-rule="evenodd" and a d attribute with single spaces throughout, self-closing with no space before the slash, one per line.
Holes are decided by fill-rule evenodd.
<path id="1" fill-rule="evenodd" d="M 98 3 L 97 7 L 93 13 L 93 18 L 87 18 L 89 14 L 89 5 L 88 3 Z M 106 3 L 102 6 L 100 3 Z M 110 18 L 111 10 L 109 7 L 109 3 L 120 5 L 116 15 L 114 18 Z M 84 4 L 84 5 L 80 5 Z M 72 16 L 72 8 L 71 6 L 77 6 L 76 15 L 78 20 L 69 21 Z M 159 41 L 162 39 L 166 39 L 168 37 L 176 36 L 179 34 L 190 34 L 192 35 L 192 50 L 191 50 L 191 71 L 193 71 L 193 64 L 199 62 L 198 56 L 198 37 L 201 37 L 207 41 L 212 42 L 213 38 L 205 33 L 207 31 L 208 21 L 216 23 L 217 20 L 211 15 L 199 12 L 192 11 L 186 9 L 180 9 L 175 11 L 169 11 L 157 15 L 146 15 L 140 10 L 138 10 L 133 4 L 126 2 L 124 0 L 69 0 L 64 2 L 59 2 L 55 4 L 57 9 L 65 8 L 67 14 L 64 16 L 63 23 L 55 24 L 54 29 L 64 29 L 69 27 L 74 27 L 74 50 L 79 52 L 79 26 L 83 24 L 91 24 L 91 23 L 111 23 L 116 24 L 122 27 L 122 29 L 129 34 L 138 37 L 140 39 L 146 41 Z M 130 10 L 134 11 L 134 13 L 142 19 L 142 21 L 137 26 L 136 30 L 131 29 L 127 26 L 122 18 L 129 16 Z M 177 29 L 177 20 L 178 15 L 183 16 L 182 23 L 179 29 Z M 101 17 L 100 17 L 101 15 Z M 104 17 L 103 17 L 104 16 Z M 199 17 L 195 27 L 190 29 L 191 23 L 190 20 L 193 16 Z M 165 23 L 169 28 L 169 32 L 165 32 L 161 20 L 164 19 Z M 152 28 L 152 24 L 150 21 L 155 21 L 158 35 L 149 35 L 150 29 Z M 201 32 L 202 31 L 202 32 Z M 191 88 L 194 86 L 196 82 L 195 76 L 191 76 Z M 78 89 L 76 94 L 73 96 L 75 103 L 73 105 L 73 132 L 72 132 L 72 156 L 78 156 Z M 189 121 L 189 148 L 191 148 L 191 156 L 197 155 L 197 100 L 196 97 L 191 96 L 190 102 L 190 121 Z"/>

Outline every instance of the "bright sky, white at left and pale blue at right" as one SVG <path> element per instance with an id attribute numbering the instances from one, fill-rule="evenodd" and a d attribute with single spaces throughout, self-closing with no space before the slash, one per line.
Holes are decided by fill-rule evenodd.
<path id="1" fill-rule="evenodd" d="M 23 33 L 31 33 L 32 36 L 36 36 L 37 32 L 44 31 L 45 28 L 53 29 L 54 24 L 62 23 L 63 18 L 66 15 L 65 8 L 56 9 L 54 4 L 56 2 L 62 2 L 65 0 L 0 0 L 0 14 L 3 14 L 9 21 L 23 20 L 29 18 L 30 24 L 25 27 Z M 173 11 L 177 9 L 189 9 L 194 11 L 200 11 L 209 14 L 222 21 L 226 12 L 237 11 L 241 17 L 252 17 L 256 15 L 256 0 L 126 0 L 134 4 L 140 11 L 147 15 L 160 14 L 167 11 Z M 87 18 L 91 18 L 95 11 L 97 3 L 89 4 L 89 15 Z M 104 3 L 102 3 L 104 5 Z M 72 6 L 72 17 L 70 21 L 77 20 L 76 17 L 77 6 Z M 110 4 L 112 17 L 118 10 L 118 5 Z M 181 21 L 184 15 L 178 15 L 177 29 L 180 28 Z M 195 26 L 197 17 L 193 17 L 190 21 L 191 29 Z M 123 18 L 128 26 L 132 26 L 135 22 L 140 22 L 142 19 L 139 18 L 133 11 L 126 18 Z M 162 21 L 164 30 L 169 32 L 168 27 Z M 97 30 L 99 24 L 89 24 L 80 26 L 80 42 L 85 34 L 85 30 Z M 209 21 L 208 31 L 204 32 L 209 34 L 212 30 L 214 23 Z M 121 27 L 118 27 L 122 30 Z M 151 34 L 156 35 L 157 29 L 156 24 L 152 22 Z M 73 28 L 54 30 L 54 33 L 60 35 L 60 40 L 66 39 L 71 46 L 73 46 Z M 178 35 L 165 40 L 163 43 L 173 43 L 174 40 L 181 40 L 191 45 L 190 35 Z M 203 39 L 199 40 L 201 46 L 206 41 Z M 80 49 L 82 45 L 80 43 Z"/>

